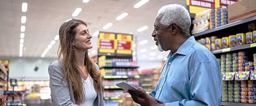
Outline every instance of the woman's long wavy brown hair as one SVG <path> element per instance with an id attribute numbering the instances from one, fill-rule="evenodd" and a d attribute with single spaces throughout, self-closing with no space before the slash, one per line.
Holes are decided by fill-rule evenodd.
<path id="1" fill-rule="evenodd" d="M 84 102 L 85 92 L 83 89 L 81 70 L 77 66 L 71 42 L 75 39 L 75 35 L 77 33 L 76 27 L 79 24 L 84 24 L 87 27 L 87 24 L 84 21 L 78 19 L 71 19 L 61 25 L 59 29 L 60 46 L 58 49 L 58 60 L 62 59 L 63 68 L 66 69 L 66 72 L 62 71 L 62 81 L 67 79 L 72 85 L 74 97 L 78 104 Z M 84 56 L 84 65 L 93 79 L 94 89 L 97 93 L 100 93 L 103 86 L 102 76 L 94 66 L 93 61 L 90 59 L 88 50 Z"/>

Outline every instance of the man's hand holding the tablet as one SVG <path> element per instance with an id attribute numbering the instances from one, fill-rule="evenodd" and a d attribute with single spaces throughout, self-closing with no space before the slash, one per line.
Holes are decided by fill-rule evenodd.
<path id="1" fill-rule="evenodd" d="M 142 106 L 163 106 L 164 104 L 158 103 L 155 98 L 150 96 L 142 89 L 142 87 L 138 87 L 139 92 L 128 91 L 132 95 L 132 99 L 134 102 L 141 104 Z"/>

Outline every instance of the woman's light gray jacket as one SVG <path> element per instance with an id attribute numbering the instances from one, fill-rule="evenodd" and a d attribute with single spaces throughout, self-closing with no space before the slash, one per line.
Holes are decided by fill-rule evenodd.
<path id="1" fill-rule="evenodd" d="M 97 64 L 95 67 L 99 70 Z M 71 84 L 67 80 L 63 80 L 63 86 L 61 84 L 62 73 L 64 71 L 63 65 L 59 60 L 54 61 L 49 65 L 48 73 L 50 75 L 50 88 L 52 105 L 78 105 L 73 94 Z M 90 91 L 89 91 L 90 92 Z M 103 95 L 102 92 L 97 94 L 97 98 L 93 102 L 93 106 L 103 106 Z"/>

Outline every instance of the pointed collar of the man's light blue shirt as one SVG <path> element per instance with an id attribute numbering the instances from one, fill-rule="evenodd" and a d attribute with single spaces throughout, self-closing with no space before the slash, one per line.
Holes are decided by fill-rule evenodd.
<path id="1" fill-rule="evenodd" d="M 179 49 L 175 52 L 175 54 L 181 54 L 181 55 L 187 55 L 188 50 L 194 45 L 196 42 L 195 37 L 191 36 L 189 37 L 180 47 Z M 170 51 L 169 55 L 167 58 L 172 56 L 172 52 Z"/>

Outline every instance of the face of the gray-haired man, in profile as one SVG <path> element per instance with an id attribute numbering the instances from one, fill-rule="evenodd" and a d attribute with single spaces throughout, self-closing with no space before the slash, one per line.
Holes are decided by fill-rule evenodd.
<path id="1" fill-rule="evenodd" d="M 154 38 L 154 41 L 156 41 L 156 45 L 159 51 L 167 51 L 170 50 L 170 47 L 168 44 L 170 43 L 170 36 L 167 32 L 167 29 L 169 28 L 166 25 L 161 24 L 161 19 L 163 15 L 159 14 L 156 17 L 155 23 L 154 23 L 154 30 L 151 34 L 151 36 Z"/>

